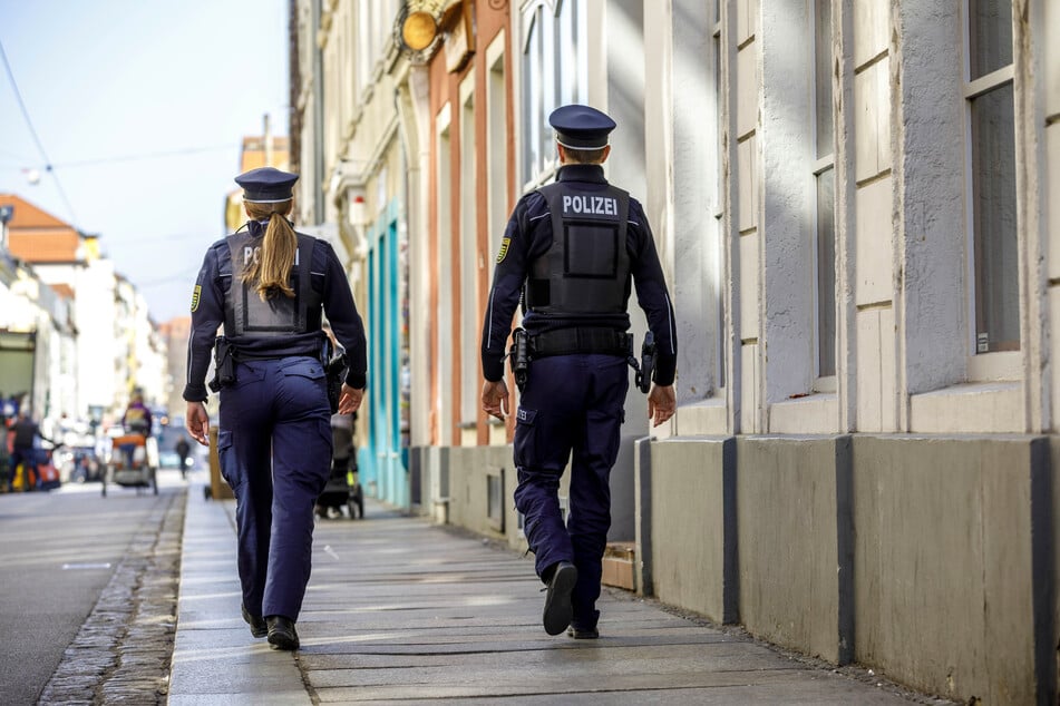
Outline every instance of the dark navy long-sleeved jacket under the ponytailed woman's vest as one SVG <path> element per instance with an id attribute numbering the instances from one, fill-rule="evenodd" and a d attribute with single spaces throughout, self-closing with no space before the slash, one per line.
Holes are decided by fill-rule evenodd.
<path id="1" fill-rule="evenodd" d="M 266 225 L 266 223 L 252 220 L 247 227 L 251 235 L 257 237 L 264 235 Z M 311 236 L 299 234 L 300 239 L 308 237 Z M 335 340 L 346 349 L 349 356 L 346 383 L 353 389 L 362 390 L 367 382 L 368 370 L 364 326 L 353 304 L 350 283 L 334 248 L 319 238 L 312 238 L 312 241 L 310 284 L 323 305 Z M 207 398 L 206 371 L 210 367 L 217 330 L 225 321 L 225 294 L 228 287 L 233 286 L 239 287 L 243 284 L 240 282 L 239 273 L 233 273 L 227 238 L 222 238 L 206 251 L 192 298 L 192 331 L 187 343 L 185 400 L 197 402 Z M 236 350 L 236 357 L 239 359 L 240 355 L 244 357 L 291 355 L 319 357 L 324 334 L 320 330 L 319 312 L 309 312 L 309 314 L 310 325 L 305 333 L 280 337 L 230 336 L 228 340 Z"/>

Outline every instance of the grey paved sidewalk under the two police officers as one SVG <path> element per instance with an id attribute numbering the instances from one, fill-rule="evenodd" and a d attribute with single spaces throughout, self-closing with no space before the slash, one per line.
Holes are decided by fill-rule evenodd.
<path id="1" fill-rule="evenodd" d="M 532 558 L 367 511 L 318 523 L 302 647 L 284 653 L 240 617 L 234 501 L 191 488 L 169 704 L 911 703 L 607 589 L 601 639 L 550 637 Z"/>

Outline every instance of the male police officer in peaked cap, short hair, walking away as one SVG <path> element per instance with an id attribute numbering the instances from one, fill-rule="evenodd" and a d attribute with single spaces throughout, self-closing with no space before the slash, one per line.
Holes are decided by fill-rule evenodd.
<path id="1" fill-rule="evenodd" d="M 614 121 L 571 105 L 556 130 L 555 184 L 524 196 L 508 219 L 483 326 L 483 409 L 509 409 L 504 346 L 522 293 L 529 357 L 515 430 L 518 487 L 536 570 L 547 586 L 543 622 L 558 635 L 599 636 L 596 599 L 611 527 L 611 467 L 619 451 L 631 353 L 630 280 L 658 345 L 648 414 L 673 415 L 673 307 L 641 205 L 604 178 Z M 572 457 L 573 451 L 573 457 Z M 572 458 L 567 524 L 557 491 Z"/>

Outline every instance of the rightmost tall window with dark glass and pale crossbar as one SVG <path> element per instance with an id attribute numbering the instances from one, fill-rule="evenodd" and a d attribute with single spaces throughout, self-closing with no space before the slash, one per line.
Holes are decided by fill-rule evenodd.
<path id="1" fill-rule="evenodd" d="M 1018 351 L 1012 3 L 967 0 L 966 18 L 974 352 Z"/>

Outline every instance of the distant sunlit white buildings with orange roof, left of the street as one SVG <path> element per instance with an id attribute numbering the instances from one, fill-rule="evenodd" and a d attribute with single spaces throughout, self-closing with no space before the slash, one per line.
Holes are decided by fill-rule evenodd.
<path id="1" fill-rule="evenodd" d="M 41 312 L 36 326 L 19 324 L 37 332 L 31 406 L 38 419 L 108 425 L 121 419 L 136 389 L 148 404 L 165 405 L 172 384 L 165 344 L 146 300 L 100 254 L 98 237 L 17 195 L 0 195 L 3 204 L 13 207 L 4 255 L 27 271 L 10 292 Z M 16 311 L 6 312 L 7 317 Z M 49 331 L 58 337 L 42 337 Z"/>

